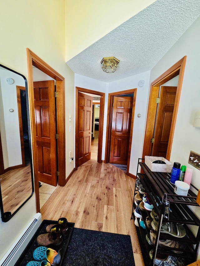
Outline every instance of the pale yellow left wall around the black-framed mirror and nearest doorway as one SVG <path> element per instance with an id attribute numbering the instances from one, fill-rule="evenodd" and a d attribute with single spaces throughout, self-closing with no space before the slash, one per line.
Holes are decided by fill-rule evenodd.
<path id="1" fill-rule="evenodd" d="M 74 113 L 74 73 L 65 63 L 65 0 L 3 1 L 0 8 L 0 63 L 28 80 L 28 47 L 65 78 L 66 125 Z M 66 132 L 66 154 L 74 149 L 74 128 Z M 73 170 L 66 161 L 66 175 Z M 0 219 L 0 259 L 36 213 L 35 195 L 7 223 Z M 59 218 L 59 217 L 58 217 Z M 3 239 L 3 241 L 2 241 Z"/>

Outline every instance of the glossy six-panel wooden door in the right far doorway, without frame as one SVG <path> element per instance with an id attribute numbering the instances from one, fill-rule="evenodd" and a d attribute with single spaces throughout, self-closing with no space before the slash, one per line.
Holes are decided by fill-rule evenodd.
<path id="1" fill-rule="evenodd" d="M 111 130 L 110 163 L 127 164 L 133 97 L 115 96 Z"/>

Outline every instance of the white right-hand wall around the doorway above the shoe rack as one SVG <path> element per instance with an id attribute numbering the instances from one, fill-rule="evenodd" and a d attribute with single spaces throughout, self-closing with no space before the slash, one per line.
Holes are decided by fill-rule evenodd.
<path id="1" fill-rule="evenodd" d="M 188 164 L 190 150 L 200 153 L 200 128 L 193 128 L 195 112 L 200 111 L 200 17 L 151 70 L 150 82 L 178 60 L 187 56 L 177 121 L 173 138 L 171 162 L 180 162 L 193 169 L 192 183 L 200 189 L 200 171 Z M 200 207 L 194 208 L 200 217 Z M 198 258 L 200 259 L 200 251 Z"/>

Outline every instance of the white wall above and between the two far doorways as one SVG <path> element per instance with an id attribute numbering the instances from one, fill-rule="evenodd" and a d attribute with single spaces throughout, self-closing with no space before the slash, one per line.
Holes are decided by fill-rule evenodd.
<path id="1" fill-rule="evenodd" d="M 109 74 L 108 74 L 109 75 Z M 136 175 L 138 158 L 142 156 L 143 140 L 145 132 L 145 121 L 147 113 L 148 88 L 149 88 L 150 71 L 141 73 L 122 80 L 117 80 L 111 83 L 105 83 L 98 80 L 93 80 L 78 74 L 75 74 L 75 86 L 101 91 L 105 93 L 105 109 L 103 122 L 103 147 L 102 160 L 105 158 L 105 142 L 106 142 L 106 128 L 107 128 L 107 113 L 108 113 L 108 93 L 117 92 L 121 90 L 137 88 L 137 97 L 135 105 L 135 116 L 133 124 L 133 139 L 131 147 L 130 168 L 129 172 Z M 138 86 L 138 82 L 144 80 L 143 87 Z M 141 114 L 138 118 L 137 114 Z"/>

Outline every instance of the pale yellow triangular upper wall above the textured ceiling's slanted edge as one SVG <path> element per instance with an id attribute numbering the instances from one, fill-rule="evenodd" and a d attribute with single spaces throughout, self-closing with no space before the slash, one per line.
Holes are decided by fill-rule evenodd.
<path id="1" fill-rule="evenodd" d="M 66 61 L 155 1 L 66 0 Z"/>

